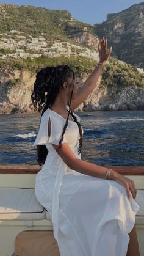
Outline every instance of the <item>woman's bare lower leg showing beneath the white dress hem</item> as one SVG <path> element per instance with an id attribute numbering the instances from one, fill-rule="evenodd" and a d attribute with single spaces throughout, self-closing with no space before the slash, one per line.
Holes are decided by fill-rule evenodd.
<path id="1" fill-rule="evenodd" d="M 131 232 L 128 235 L 129 235 L 130 240 L 129 240 L 128 251 L 127 251 L 126 256 L 140 256 L 135 224 L 134 224 L 133 229 L 131 230 Z"/>

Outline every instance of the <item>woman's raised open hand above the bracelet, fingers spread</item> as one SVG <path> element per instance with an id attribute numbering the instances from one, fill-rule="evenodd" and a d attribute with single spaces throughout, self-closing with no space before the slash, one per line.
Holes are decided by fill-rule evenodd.
<path id="1" fill-rule="evenodd" d="M 107 49 L 107 39 L 102 38 L 101 39 L 101 46 L 98 43 L 98 51 L 99 51 L 99 62 L 102 64 L 106 64 L 107 60 L 109 59 L 110 53 L 112 52 L 112 47 L 110 49 Z"/>

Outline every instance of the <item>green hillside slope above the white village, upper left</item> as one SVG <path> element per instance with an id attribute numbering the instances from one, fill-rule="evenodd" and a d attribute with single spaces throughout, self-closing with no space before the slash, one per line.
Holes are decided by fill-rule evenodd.
<path id="1" fill-rule="evenodd" d="M 1 4 L 0 33 L 12 29 L 24 34 L 39 35 L 47 33 L 48 38 L 66 39 L 70 32 L 88 31 L 92 26 L 75 20 L 67 10 L 48 10 L 31 5 Z M 2 12 L 3 10 L 3 12 Z"/>

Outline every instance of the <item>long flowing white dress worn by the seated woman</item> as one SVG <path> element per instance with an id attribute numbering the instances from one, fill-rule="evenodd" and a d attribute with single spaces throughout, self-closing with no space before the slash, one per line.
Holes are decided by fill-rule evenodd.
<path id="1" fill-rule="evenodd" d="M 80 122 L 80 117 L 77 120 Z M 48 136 L 48 120 L 51 136 Z M 59 144 L 65 119 L 47 109 L 41 117 L 33 146 L 46 145 L 48 155 L 35 179 L 35 196 L 49 211 L 54 238 L 61 256 L 126 256 L 129 235 L 139 205 L 113 180 L 85 175 L 70 169 L 52 144 Z M 83 129 L 82 129 L 83 133 Z M 68 120 L 62 143 L 77 158 L 79 128 Z"/>

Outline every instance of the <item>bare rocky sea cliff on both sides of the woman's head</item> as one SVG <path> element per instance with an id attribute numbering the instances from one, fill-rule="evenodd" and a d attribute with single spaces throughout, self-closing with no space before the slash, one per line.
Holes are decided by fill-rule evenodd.
<path id="1" fill-rule="evenodd" d="M 29 108 L 35 75 L 30 71 L 1 70 L 0 72 L 0 114 L 14 112 L 34 112 Z M 81 88 L 88 78 L 80 78 Z M 101 77 L 93 92 L 76 111 L 106 111 L 144 109 L 144 88 L 133 85 L 129 87 L 104 87 Z"/>

